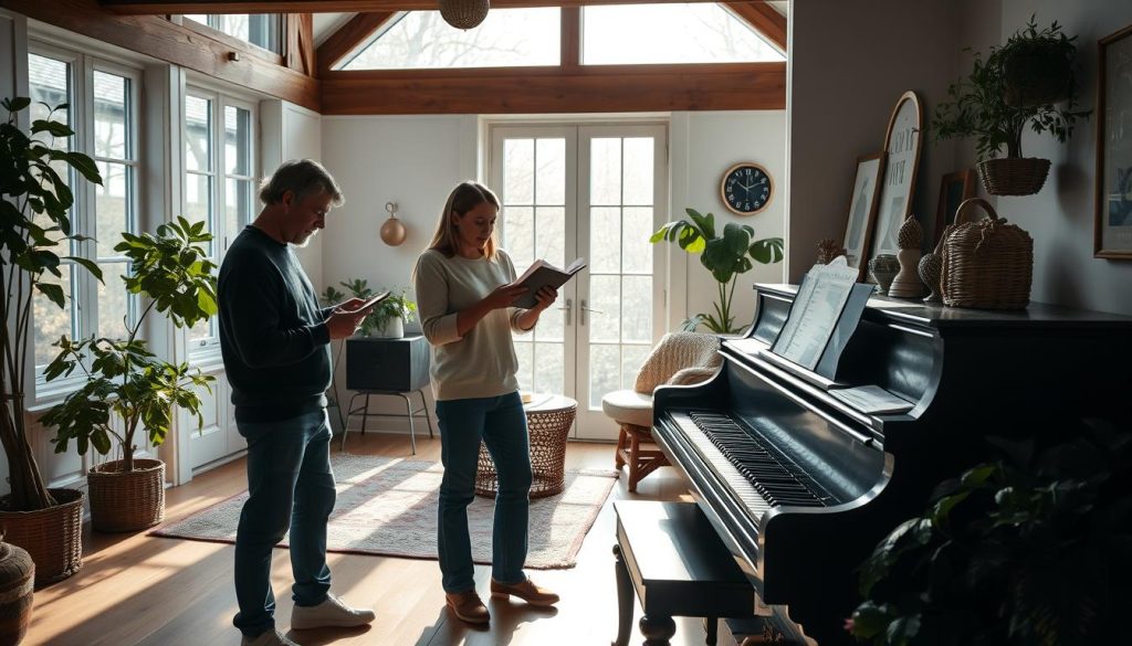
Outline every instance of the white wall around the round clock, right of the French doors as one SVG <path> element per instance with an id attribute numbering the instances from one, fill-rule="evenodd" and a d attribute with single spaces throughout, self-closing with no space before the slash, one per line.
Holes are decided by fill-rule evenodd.
<path id="1" fill-rule="evenodd" d="M 728 222 L 749 225 L 755 238 L 782 238 L 786 224 L 786 111 L 677 112 L 671 119 L 670 170 L 672 219 L 687 217 L 685 208 L 713 213 L 718 230 Z M 740 217 L 724 208 L 719 196 L 720 179 L 738 162 L 755 162 L 774 182 L 766 209 Z M 676 244 L 669 244 L 669 329 L 697 312 L 712 312 L 717 283 L 700 264 Z M 781 283 L 786 262 L 755 265 L 739 276 L 732 312 L 737 325 L 754 319 L 753 285 Z"/>

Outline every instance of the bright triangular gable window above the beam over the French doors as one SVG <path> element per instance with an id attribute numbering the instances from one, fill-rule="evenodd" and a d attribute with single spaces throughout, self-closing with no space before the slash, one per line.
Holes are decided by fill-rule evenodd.
<path id="1" fill-rule="evenodd" d="M 557 7 L 491 9 L 479 27 L 462 31 L 439 11 L 406 11 L 335 69 L 557 66 L 560 21 Z M 748 23 L 713 2 L 583 7 L 581 38 L 582 64 L 786 60 Z"/>

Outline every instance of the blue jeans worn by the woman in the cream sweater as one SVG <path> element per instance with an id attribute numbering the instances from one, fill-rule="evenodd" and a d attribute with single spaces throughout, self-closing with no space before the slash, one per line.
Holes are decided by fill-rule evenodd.
<path id="1" fill-rule="evenodd" d="M 505 584 L 524 580 L 531 455 L 526 414 L 518 393 L 437 402 L 436 416 L 444 462 L 437 532 L 444 591 L 464 592 L 475 587 L 468 505 L 475 496 L 481 439 L 495 460 L 499 477 L 491 532 L 491 577 Z"/>

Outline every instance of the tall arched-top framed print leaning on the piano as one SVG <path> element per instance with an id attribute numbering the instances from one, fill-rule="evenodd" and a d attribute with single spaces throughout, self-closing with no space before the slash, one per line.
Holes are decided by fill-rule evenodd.
<path id="1" fill-rule="evenodd" d="M 895 253 L 897 233 L 912 208 L 916 191 L 916 172 L 919 170 L 920 138 L 924 109 L 919 96 L 908 91 L 889 118 L 889 130 L 884 133 L 884 181 L 877 198 L 876 226 L 873 231 L 869 259 L 878 253 Z"/>

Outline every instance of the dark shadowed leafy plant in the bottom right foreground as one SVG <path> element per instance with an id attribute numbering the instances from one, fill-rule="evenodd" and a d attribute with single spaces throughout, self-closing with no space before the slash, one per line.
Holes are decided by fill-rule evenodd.
<path id="1" fill-rule="evenodd" d="M 889 646 L 1114 644 L 1132 604 L 1132 436 L 1089 422 L 944 482 L 860 568 L 847 629 Z M 1125 636 L 1126 640 L 1126 636 Z"/>

